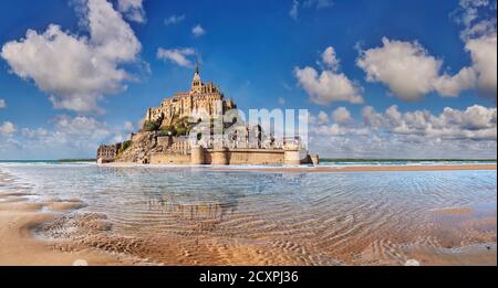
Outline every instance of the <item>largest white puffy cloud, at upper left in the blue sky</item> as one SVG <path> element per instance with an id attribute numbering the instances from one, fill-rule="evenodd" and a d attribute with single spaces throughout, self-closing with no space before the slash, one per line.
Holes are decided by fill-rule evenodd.
<path id="1" fill-rule="evenodd" d="M 102 111 L 97 102 L 122 92 L 132 76 L 122 64 L 137 61 L 142 45 L 131 26 L 105 0 L 89 0 L 90 36 L 75 35 L 51 24 L 39 34 L 28 30 L 24 39 L 3 45 L 1 57 L 12 73 L 32 79 L 55 108 L 79 113 Z"/>

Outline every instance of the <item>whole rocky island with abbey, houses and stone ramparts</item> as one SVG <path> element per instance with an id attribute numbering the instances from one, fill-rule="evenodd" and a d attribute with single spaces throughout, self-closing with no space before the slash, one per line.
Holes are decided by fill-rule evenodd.
<path id="1" fill-rule="evenodd" d="M 231 99 L 225 99 L 212 82 L 203 83 L 197 66 L 190 90 L 176 93 L 164 99 L 158 107 L 147 109 L 141 131 L 132 134 L 128 141 L 101 146 L 97 161 L 175 164 L 318 163 L 318 156 L 310 156 L 299 137 L 277 141 L 271 134 L 264 134 L 261 126 L 237 121 L 237 115 L 234 122 L 222 124 L 222 130 L 215 132 L 215 120 L 235 108 L 236 104 Z"/>

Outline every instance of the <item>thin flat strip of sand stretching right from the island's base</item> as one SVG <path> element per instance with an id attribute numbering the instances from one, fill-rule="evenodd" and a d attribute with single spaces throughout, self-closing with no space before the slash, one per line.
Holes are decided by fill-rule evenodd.
<path id="1" fill-rule="evenodd" d="M 469 170 L 496 170 L 497 164 L 421 164 L 421 166 L 344 166 L 344 167 L 269 167 L 269 168 L 238 168 L 215 167 L 217 171 L 261 171 L 261 172 L 315 172 L 315 173 L 342 173 L 342 172 L 404 172 L 404 171 L 469 171 Z"/>

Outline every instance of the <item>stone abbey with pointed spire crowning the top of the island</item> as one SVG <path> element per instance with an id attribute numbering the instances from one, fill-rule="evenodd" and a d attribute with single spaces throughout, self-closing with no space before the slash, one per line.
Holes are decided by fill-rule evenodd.
<path id="1" fill-rule="evenodd" d="M 236 107 L 231 99 L 225 99 L 224 94 L 212 82 L 203 83 L 197 65 L 190 90 L 175 93 L 173 97 L 164 99 L 158 107 L 147 109 L 144 120 L 166 127 L 175 117 L 189 117 L 199 113 L 212 117 Z"/>

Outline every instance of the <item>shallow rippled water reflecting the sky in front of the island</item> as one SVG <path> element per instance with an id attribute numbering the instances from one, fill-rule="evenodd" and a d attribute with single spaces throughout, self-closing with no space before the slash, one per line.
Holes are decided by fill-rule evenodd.
<path id="1" fill-rule="evenodd" d="M 115 234 L 252 245 L 273 252 L 258 253 L 266 257 L 290 253 L 278 264 L 295 264 L 292 257 L 402 264 L 414 249 L 496 243 L 496 171 L 269 173 L 89 163 L 9 163 L 0 171 L 40 200 L 82 200 L 87 206 L 79 213 L 105 213 Z"/>

